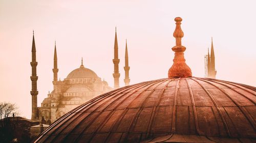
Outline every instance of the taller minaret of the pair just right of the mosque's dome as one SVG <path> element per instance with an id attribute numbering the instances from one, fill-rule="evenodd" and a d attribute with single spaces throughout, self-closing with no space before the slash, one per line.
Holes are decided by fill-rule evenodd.
<path id="1" fill-rule="evenodd" d="M 113 59 L 113 63 L 114 63 L 113 77 L 114 77 L 114 88 L 115 89 L 119 88 L 119 77 L 120 77 L 119 66 L 118 66 L 119 62 L 120 62 L 120 60 L 118 59 L 117 35 L 115 35 L 114 59 Z"/>

